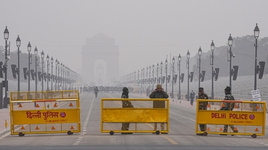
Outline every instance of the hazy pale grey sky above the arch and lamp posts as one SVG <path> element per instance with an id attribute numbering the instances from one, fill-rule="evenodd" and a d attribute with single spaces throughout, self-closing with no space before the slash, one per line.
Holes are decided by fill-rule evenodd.
<path id="1" fill-rule="evenodd" d="M 1 0 L 0 5 L 0 45 L 7 26 L 11 51 L 20 35 L 22 52 L 30 41 L 32 52 L 37 46 L 78 73 L 82 45 L 97 33 L 115 38 L 124 73 L 164 63 L 170 53 L 185 56 L 189 50 L 194 56 L 200 46 L 210 51 L 211 40 L 216 47 L 226 45 L 230 33 L 252 35 L 256 23 L 260 38 L 268 35 L 267 0 Z"/>

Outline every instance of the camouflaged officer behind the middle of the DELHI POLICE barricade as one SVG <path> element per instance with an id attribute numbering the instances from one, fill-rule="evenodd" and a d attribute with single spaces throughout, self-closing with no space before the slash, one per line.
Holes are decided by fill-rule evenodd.
<path id="1" fill-rule="evenodd" d="M 234 97 L 232 96 L 231 94 L 231 88 L 229 86 L 227 86 L 225 89 L 224 89 L 224 92 L 225 92 L 225 99 L 224 100 L 234 100 Z M 221 110 L 225 110 L 225 111 L 232 111 L 233 108 L 235 106 L 235 103 L 234 102 L 224 102 L 223 105 L 222 105 L 222 108 Z M 234 130 L 234 126 L 233 125 L 229 125 L 232 129 L 232 131 L 234 133 L 238 133 L 237 130 Z M 228 131 L 228 125 L 224 125 L 224 132 L 227 133 Z"/>

